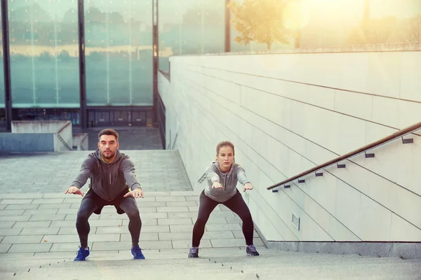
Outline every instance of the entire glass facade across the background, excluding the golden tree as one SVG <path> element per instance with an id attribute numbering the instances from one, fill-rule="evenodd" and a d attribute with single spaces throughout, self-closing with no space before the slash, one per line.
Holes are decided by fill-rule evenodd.
<path id="1" fill-rule="evenodd" d="M 272 50 L 419 41 L 421 1 L 401 1 L 292 1 L 298 6 L 281 17 L 300 29 L 298 41 Z M 154 125 L 156 72 L 170 69 L 172 55 L 267 50 L 234 40 L 241 34 L 229 23 L 229 0 L 0 3 L 0 127 L 10 120 Z"/>

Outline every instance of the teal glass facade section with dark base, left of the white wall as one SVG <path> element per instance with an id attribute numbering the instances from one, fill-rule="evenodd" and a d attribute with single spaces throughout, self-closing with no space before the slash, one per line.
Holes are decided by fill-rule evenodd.
<path id="1" fill-rule="evenodd" d="M 152 1 L 1 0 L 0 127 L 5 66 L 11 120 L 153 125 Z"/>

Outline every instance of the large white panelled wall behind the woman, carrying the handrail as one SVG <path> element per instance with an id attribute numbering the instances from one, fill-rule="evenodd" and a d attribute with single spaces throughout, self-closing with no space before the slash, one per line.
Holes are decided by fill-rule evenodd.
<path id="1" fill-rule="evenodd" d="M 197 192 L 218 141 L 232 141 L 267 240 L 421 241 L 421 132 L 266 189 L 419 122 L 420 62 L 421 52 L 171 57 L 171 83 L 159 74 L 166 141 L 178 135 Z"/>

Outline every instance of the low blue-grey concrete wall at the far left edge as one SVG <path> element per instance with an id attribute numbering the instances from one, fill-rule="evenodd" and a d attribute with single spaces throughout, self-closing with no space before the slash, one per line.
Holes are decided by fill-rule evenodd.
<path id="1" fill-rule="evenodd" d="M 1 152 L 53 152 L 53 133 L 0 133 Z"/>

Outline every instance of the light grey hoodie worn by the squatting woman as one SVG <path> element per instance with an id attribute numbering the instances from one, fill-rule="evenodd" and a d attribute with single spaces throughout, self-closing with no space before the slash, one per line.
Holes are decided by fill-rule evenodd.
<path id="1" fill-rule="evenodd" d="M 229 172 L 222 172 L 219 162 L 213 162 L 206 168 L 206 179 L 208 184 L 205 188 L 205 195 L 217 202 L 226 202 L 236 195 L 236 185 L 240 182 L 242 185 L 250 183 L 246 177 L 246 172 L 241 165 L 233 163 Z M 212 188 L 214 181 L 219 181 L 224 187 L 222 189 Z"/>

